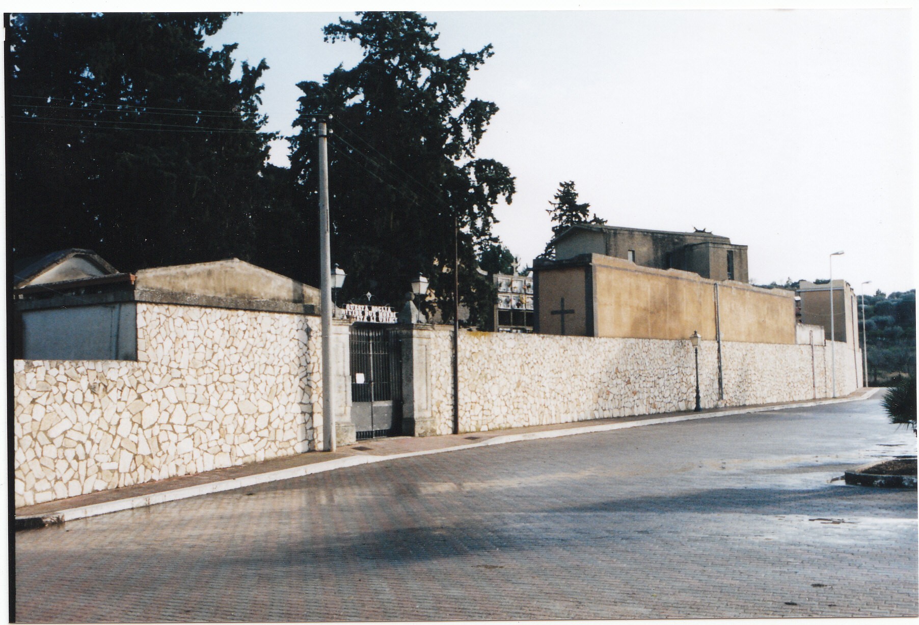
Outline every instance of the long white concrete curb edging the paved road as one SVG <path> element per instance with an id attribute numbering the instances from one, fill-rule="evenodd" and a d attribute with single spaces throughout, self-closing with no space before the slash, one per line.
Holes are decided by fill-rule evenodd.
<path id="1" fill-rule="evenodd" d="M 69 520 L 76 519 L 86 519 L 88 517 L 96 517 L 100 514 L 108 514 L 110 512 L 121 512 L 124 510 L 130 510 L 134 508 L 146 508 L 148 506 L 155 506 L 156 504 L 163 504 L 169 501 L 177 501 L 179 499 L 187 499 L 189 497 L 199 497 L 201 495 L 210 495 L 212 493 L 221 493 L 227 490 L 236 490 L 237 488 L 245 488 L 247 486 L 254 486 L 259 484 L 266 484 L 268 482 L 278 482 L 280 480 L 289 480 L 294 477 L 302 477 L 303 475 L 324 473 L 326 471 L 334 471 L 335 469 L 341 469 L 347 466 L 357 466 L 358 464 L 371 464 L 371 463 L 382 463 L 388 462 L 391 460 L 397 460 L 399 458 L 411 458 L 413 456 L 424 456 L 431 455 L 434 453 L 443 453 L 443 452 L 458 452 L 459 450 L 473 449 L 476 447 L 483 447 L 486 445 L 502 445 L 508 442 L 516 441 L 536 441 L 539 439 L 554 439 L 562 436 L 573 436 L 576 434 L 590 434 L 594 432 L 604 432 L 609 430 L 624 430 L 626 428 L 639 428 L 646 425 L 659 425 L 663 423 L 676 423 L 678 421 L 692 421 L 696 419 L 713 419 L 715 417 L 731 417 L 734 415 L 748 415 L 755 414 L 758 412 L 772 412 L 775 410 L 786 410 L 789 408 L 798 408 L 798 407 L 812 407 L 812 406 L 823 406 L 826 404 L 842 404 L 850 401 L 859 401 L 862 399 L 868 399 L 868 397 L 874 396 L 876 393 L 879 393 L 883 389 L 881 388 L 872 388 L 868 390 L 864 395 L 857 397 L 837 397 L 834 399 L 817 399 L 809 402 L 802 402 L 798 404 L 785 404 L 777 406 L 759 406 L 759 407 L 738 407 L 738 408 L 725 408 L 723 410 L 714 410 L 711 412 L 703 413 L 691 413 L 688 415 L 680 415 L 678 417 L 661 417 L 658 419 L 641 419 L 637 421 L 627 421 L 624 423 L 604 423 L 600 425 L 592 426 L 581 426 L 566 428 L 564 430 L 543 430 L 535 432 L 522 432 L 520 434 L 507 434 L 505 436 L 496 436 L 492 439 L 488 439 L 481 442 L 472 442 L 464 445 L 456 445 L 454 447 L 445 447 L 440 449 L 433 450 L 422 450 L 418 452 L 403 452 L 403 453 L 391 453 L 388 455 L 360 455 L 360 456 L 349 456 L 347 458 L 337 458 L 335 460 L 329 460 L 321 463 L 312 463 L 304 464 L 302 466 L 291 467 L 289 469 L 281 469 L 279 471 L 271 471 L 263 474 L 253 474 L 253 475 L 244 475 L 243 477 L 235 477 L 233 479 L 221 480 L 220 482 L 211 482 L 210 484 L 199 484 L 193 486 L 185 486 L 182 488 L 176 488 L 174 490 L 167 490 L 160 493 L 153 493 L 151 495 L 142 495 L 139 497 L 125 497 L 123 499 L 116 499 L 114 501 L 105 501 L 98 504 L 91 504 L 89 506 L 81 506 L 79 508 L 66 508 L 63 510 L 58 510 L 56 512 L 51 512 L 43 515 L 31 516 L 31 517 L 17 517 L 16 518 L 16 530 L 28 530 L 41 528 L 48 525 L 55 525 L 63 523 Z"/>

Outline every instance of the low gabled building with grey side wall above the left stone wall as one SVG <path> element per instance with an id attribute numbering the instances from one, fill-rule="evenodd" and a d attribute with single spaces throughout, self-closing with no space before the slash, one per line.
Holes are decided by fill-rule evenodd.
<path id="1" fill-rule="evenodd" d="M 319 290 L 239 259 L 120 273 L 90 250 L 14 269 L 14 352 L 28 360 L 136 360 L 137 304 L 312 312 Z"/>

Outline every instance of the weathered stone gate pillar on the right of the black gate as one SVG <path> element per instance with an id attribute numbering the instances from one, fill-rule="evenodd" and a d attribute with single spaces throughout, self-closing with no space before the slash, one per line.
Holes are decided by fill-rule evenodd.
<path id="1" fill-rule="evenodd" d="M 435 436 L 431 414 L 430 350 L 434 329 L 424 325 L 401 327 L 403 336 L 403 434 Z"/>

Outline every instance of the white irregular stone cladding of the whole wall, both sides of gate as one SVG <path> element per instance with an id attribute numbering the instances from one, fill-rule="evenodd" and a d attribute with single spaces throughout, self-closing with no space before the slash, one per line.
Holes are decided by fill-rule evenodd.
<path id="1" fill-rule="evenodd" d="M 136 362 L 16 361 L 16 507 L 321 447 L 320 331 L 319 318 L 302 314 L 138 302 Z M 429 340 L 417 405 L 449 434 L 452 329 L 418 331 Z M 336 348 L 342 393 L 345 346 Z M 722 343 L 720 398 L 717 343 L 702 341 L 702 407 L 832 396 L 830 354 L 829 345 Z M 861 384 L 861 354 L 837 342 L 835 355 L 843 396 Z M 688 340 L 462 330 L 459 430 L 689 410 L 695 372 Z"/>

